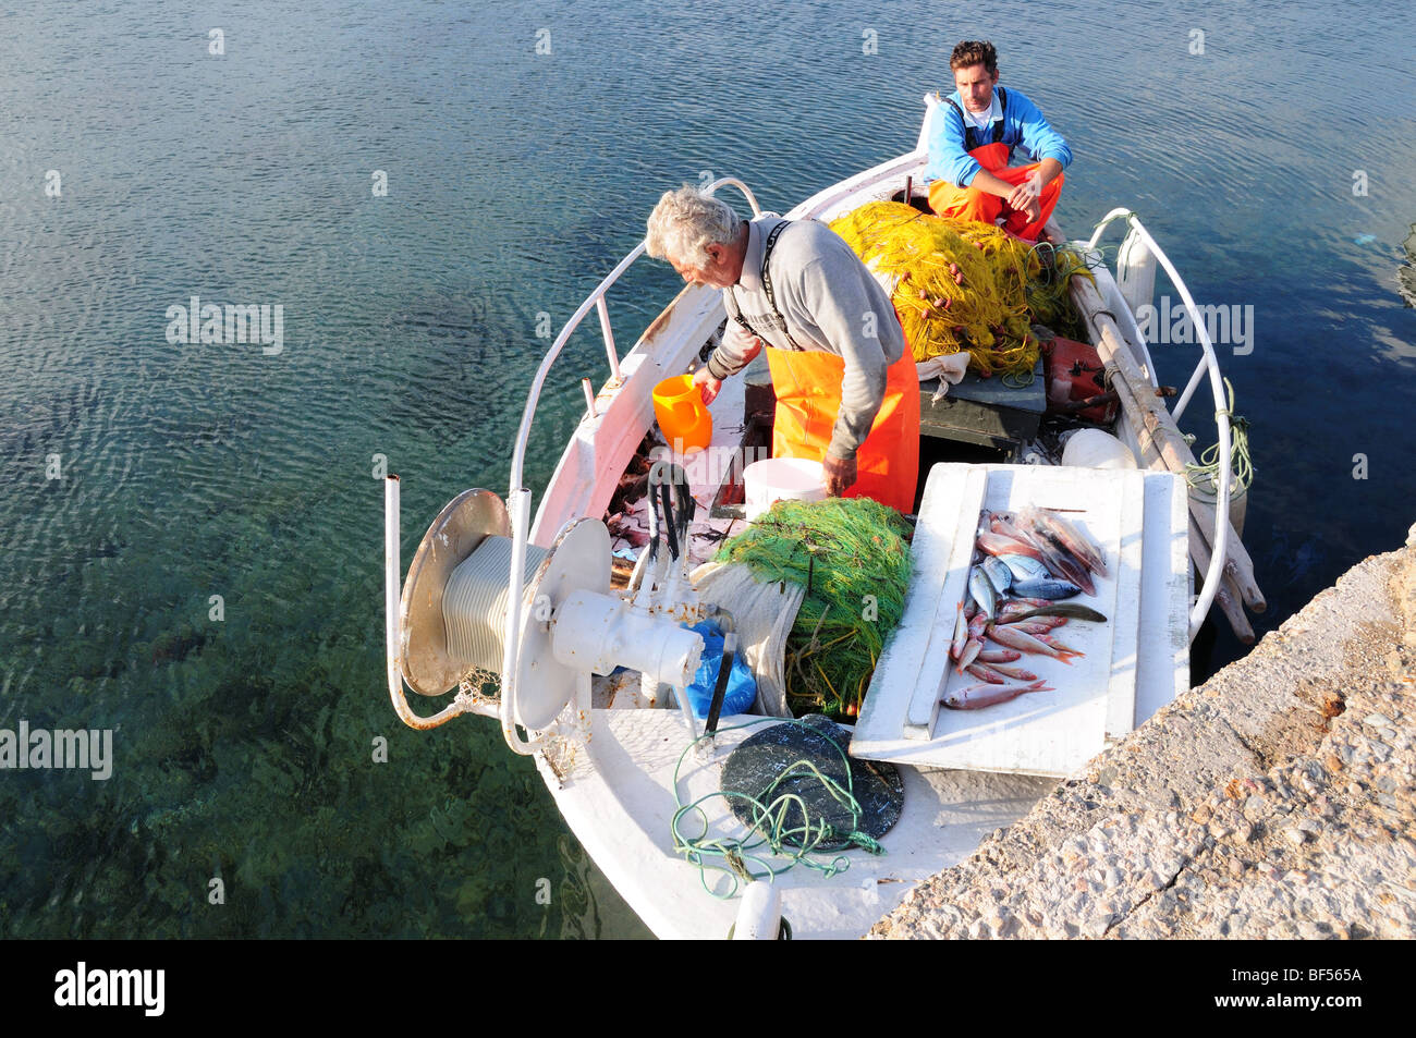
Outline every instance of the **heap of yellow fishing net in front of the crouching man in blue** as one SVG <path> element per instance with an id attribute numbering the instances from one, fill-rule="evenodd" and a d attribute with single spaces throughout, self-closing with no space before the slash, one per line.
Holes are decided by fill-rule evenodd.
<path id="1" fill-rule="evenodd" d="M 1031 375 L 1028 282 L 1041 262 L 1025 242 L 902 203 L 868 203 L 830 228 L 872 270 L 899 279 L 892 302 L 916 361 L 967 350 L 980 375 Z"/>

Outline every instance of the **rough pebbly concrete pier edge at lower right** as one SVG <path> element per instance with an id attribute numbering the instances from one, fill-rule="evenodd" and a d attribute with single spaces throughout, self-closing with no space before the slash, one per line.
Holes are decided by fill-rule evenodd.
<path id="1" fill-rule="evenodd" d="M 1416 936 L 1416 527 L 869 937 Z"/>

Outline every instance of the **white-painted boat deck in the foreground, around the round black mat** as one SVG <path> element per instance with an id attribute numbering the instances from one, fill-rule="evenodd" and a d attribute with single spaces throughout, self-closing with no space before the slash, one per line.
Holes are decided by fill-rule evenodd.
<path id="1" fill-rule="evenodd" d="M 654 933 L 721 940 L 736 918 L 739 899 L 709 896 L 698 868 L 673 845 L 674 769 L 687 746 L 681 715 L 667 709 L 593 709 L 588 717 L 590 738 L 562 768 L 564 779 L 544 756 L 537 758 L 565 820 Z M 687 804 L 718 792 L 728 753 L 760 731 L 765 721 L 770 718 L 724 718 L 714 749 L 704 756 L 690 751 L 684 760 L 680 802 Z M 735 728 L 745 724 L 753 726 Z M 855 850 L 848 854 L 850 868 L 834 877 L 796 865 L 776 878 L 783 889 L 783 916 L 797 936 L 860 937 L 915 884 L 967 858 L 990 833 L 1021 819 L 1056 785 L 1055 779 L 1025 775 L 899 770 L 905 807 L 881 840 L 884 855 Z M 722 797 L 714 797 L 705 809 L 711 833 L 743 837 L 742 824 Z M 695 831 L 688 823 L 683 827 Z M 780 858 L 775 867 L 786 864 Z M 707 882 L 719 895 L 731 886 L 728 875 L 719 872 L 708 872 Z M 820 896 L 823 889 L 831 896 Z"/>

